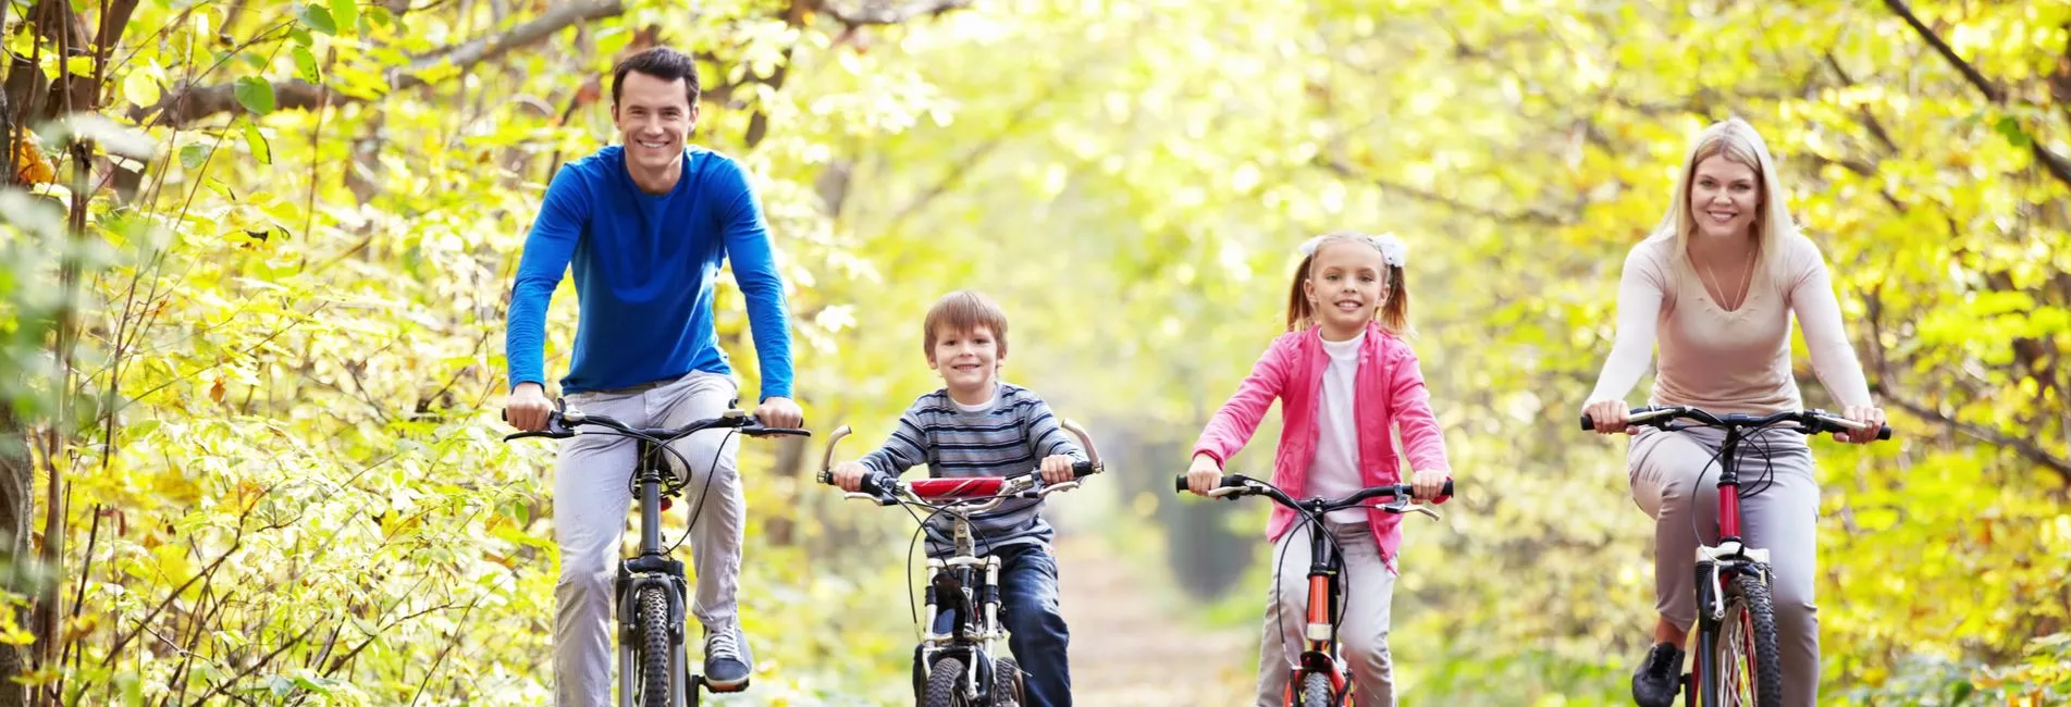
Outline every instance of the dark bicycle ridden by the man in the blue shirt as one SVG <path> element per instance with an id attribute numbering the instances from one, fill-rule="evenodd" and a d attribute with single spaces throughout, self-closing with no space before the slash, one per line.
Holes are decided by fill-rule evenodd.
<path id="1" fill-rule="evenodd" d="M 580 428 L 599 428 L 584 432 Z M 505 442 L 532 436 L 570 438 L 576 434 L 615 434 L 638 440 L 634 455 L 632 484 L 640 490 L 640 554 L 619 560 L 619 577 L 613 587 L 613 616 L 619 618 L 619 705 L 621 707 L 696 707 L 698 688 L 712 693 L 739 693 L 748 684 L 727 690 L 714 688 L 704 676 L 690 674 L 690 653 L 683 641 L 686 604 L 690 583 L 683 579 L 683 560 L 671 558 L 661 546 L 661 515 L 681 496 L 690 484 L 690 459 L 669 447 L 679 438 L 702 430 L 735 430 L 748 436 L 799 434 L 812 430 L 764 428 L 754 416 L 741 409 L 727 409 L 719 418 L 696 420 L 681 428 L 634 428 L 607 416 L 586 416 L 565 409 L 555 401 L 547 413 L 547 428 L 538 432 L 516 432 L 503 436 Z M 731 432 L 729 432 L 731 434 Z M 725 447 L 725 444 L 721 444 Z M 663 453 L 683 463 L 686 478 L 677 480 Z M 634 670 L 630 670 L 634 668 Z"/>

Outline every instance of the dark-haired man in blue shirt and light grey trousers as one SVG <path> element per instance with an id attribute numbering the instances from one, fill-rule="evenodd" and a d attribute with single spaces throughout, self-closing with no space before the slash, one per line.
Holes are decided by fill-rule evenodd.
<path id="1" fill-rule="evenodd" d="M 505 416 L 520 430 L 547 426 L 543 349 L 547 302 L 574 265 L 578 322 L 563 399 L 632 426 L 681 426 L 735 405 L 739 389 L 712 327 L 721 263 L 748 300 L 762 370 L 756 418 L 795 428 L 791 335 L 783 279 L 768 229 L 739 163 L 686 145 L 698 122 L 698 68 L 681 52 L 654 48 L 623 60 L 611 81 L 611 118 L 623 145 L 563 165 L 547 186 L 512 287 L 512 393 Z M 611 699 L 611 606 L 619 535 L 625 529 L 634 440 L 609 434 L 561 442 L 553 482 L 555 695 L 563 707 Z M 704 624 L 704 680 L 714 690 L 748 686 L 754 653 L 741 635 L 735 587 L 741 568 L 737 436 L 692 434 L 677 451 L 694 465 L 686 488 Z M 671 459 L 671 463 L 679 463 Z M 679 469 L 681 473 L 681 469 Z M 710 496 L 710 498 L 704 498 Z"/>

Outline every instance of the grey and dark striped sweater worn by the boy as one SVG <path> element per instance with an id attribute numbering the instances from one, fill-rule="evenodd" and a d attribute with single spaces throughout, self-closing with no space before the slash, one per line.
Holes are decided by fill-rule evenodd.
<path id="1" fill-rule="evenodd" d="M 1085 451 L 1064 432 L 1050 405 L 1033 391 L 998 385 L 990 403 L 959 405 L 949 389 L 922 395 L 903 416 L 884 447 L 862 459 L 872 473 L 905 473 L 928 465 L 932 478 L 1013 475 L 1033 471 L 1044 457 L 1069 455 L 1085 461 Z M 928 554 L 944 556 L 951 544 L 949 515 L 928 525 Z M 978 554 L 1017 544 L 1050 544 L 1054 531 L 1042 519 L 1042 500 L 1007 500 L 971 517 Z"/>

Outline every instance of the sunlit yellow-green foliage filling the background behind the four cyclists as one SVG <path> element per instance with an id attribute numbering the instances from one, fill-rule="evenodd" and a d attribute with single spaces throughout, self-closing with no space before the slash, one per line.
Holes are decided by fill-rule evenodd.
<path id="1" fill-rule="evenodd" d="M 611 134 L 599 74 L 659 31 L 706 60 L 696 141 L 764 198 L 810 426 L 853 424 L 845 453 L 882 438 L 938 385 L 920 312 L 984 287 L 1013 318 L 1007 376 L 1129 459 L 1085 525 L 1168 523 L 1222 624 L 1255 622 L 1267 575 L 1201 558 L 1263 558 L 1263 511 L 1166 480 L 1280 331 L 1292 246 L 1402 234 L 1464 488 L 1443 523 L 1406 523 L 1394 645 L 1427 703 L 1620 699 L 1651 527 L 1620 449 L 1572 416 L 1688 139 L 1744 116 L 1899 434 L 1814 442 L 1827 695 L 2071 690 L 2071 6 L 1916 2 L 1988 87 L 1895 2 L 851 6 L 876 4 L 139 2 L 106 60 L 70 62 L 8 29 L 23 58 L 43 41 L 27 72 L 104 76 L 97 114 L 31 124 L 58 178 L 0 190 L 21 372 L 0 397 L 35 432 L 37 527 L 52 475 L 72 498 L 64 662 L 33 680 L 68 703 L 547 701 L 551 451 L 499 438 L 505 294 L 557 161 Z M 215 103 L 172 101 L 188 87 Z M 565 285 L 549 368 L 572 320 Z M 719 322 L 754 362 L 731 285 Z M 1274 434 L 1234 463 L 1263 469 Z M 841 504 L 814 457 L 748 444 L 764 672 L 714 703 L 905 693 L 905 519 Z"/>

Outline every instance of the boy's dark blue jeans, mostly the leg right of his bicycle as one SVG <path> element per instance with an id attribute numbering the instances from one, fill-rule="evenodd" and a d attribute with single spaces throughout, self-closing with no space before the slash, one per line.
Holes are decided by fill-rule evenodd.
<path id="1" fill-rule="evenodd" d="M 1025 707 L 1071 707 L 1071 631 L 1056 606 L 1056 556 L 1042 544 L 1017 544 L 992 552 L 1000 558 L 1000 622 L 1007 647 L 1025 674 Z M 936 616 L 936 631 L 949 631 L 949 614 Z"/>

